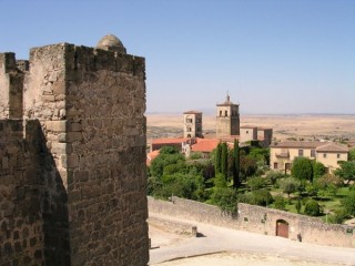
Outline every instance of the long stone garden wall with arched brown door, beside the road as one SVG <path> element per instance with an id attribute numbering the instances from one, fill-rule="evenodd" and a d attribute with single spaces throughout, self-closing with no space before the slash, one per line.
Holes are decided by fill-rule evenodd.
<path id="1" fill-rule="evenodd" d="M 277 235 L 277 224 L 287 224 L 288 238 L 306 243 L 355 247 L 355 227 L 325 224 L 321 219 L 272 208 L 240 203 L 237 215 L 232 216 L 219 207 L 173 197 L 164 202 L 149 197 L 150 213 L 161 213 L 234 229 Z M 280 233 L 278 233 L 280 235 Z"/>

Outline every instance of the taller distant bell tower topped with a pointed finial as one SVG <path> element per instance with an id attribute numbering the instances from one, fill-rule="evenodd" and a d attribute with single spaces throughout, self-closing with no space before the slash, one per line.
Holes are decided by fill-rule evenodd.
<path id="1" fill-rule="evenodd" d="M 231 102 L 230 95 L 226 101 L 216 105 L 216 137 L 226 137 L 240 134 L 240 105 Z"/>

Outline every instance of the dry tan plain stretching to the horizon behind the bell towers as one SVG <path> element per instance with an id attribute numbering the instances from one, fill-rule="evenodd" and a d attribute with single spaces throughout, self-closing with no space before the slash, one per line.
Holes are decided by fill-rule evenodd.
<path id="1" fill-rule="evenodd" d="M 149 140 L 183 134 L 182 114 L 148 114 L 146 119 Z M 355 139 L 355 115 L 241 115 L 241 125 L 272 127 L 277 140 Z M 203 116 L 203 130 L 213 135 L 214 116 Z"/>

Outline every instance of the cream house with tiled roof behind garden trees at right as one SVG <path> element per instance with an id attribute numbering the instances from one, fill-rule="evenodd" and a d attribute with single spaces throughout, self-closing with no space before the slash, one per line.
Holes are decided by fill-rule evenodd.
<path id="1" fill-rule="evenodd" d="M 288 141 L 270 145 L 270 167 L 290 173 L 296 157 L 307 157 L 324 164 L 328 172 L 338 168 L 339 161 L 347 161 L 348 147 L 334 142 Z"/>

